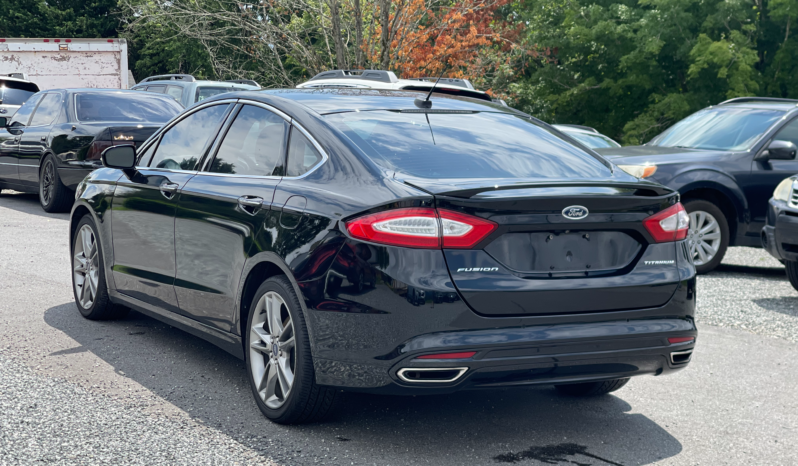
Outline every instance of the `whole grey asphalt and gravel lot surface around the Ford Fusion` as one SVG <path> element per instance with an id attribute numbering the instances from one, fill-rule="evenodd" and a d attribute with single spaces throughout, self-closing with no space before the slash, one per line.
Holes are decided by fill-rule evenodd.
<path id="1" fill-rule="evenodd" d="M 0 195 L 0 465 L 798 464 L 798 292 L 764 251 L 699 278 L 690 366 L 615 394 L 345 394 L 279 426 L 241 361 L 138 313 L 80 317 L 66 214 Z"/>

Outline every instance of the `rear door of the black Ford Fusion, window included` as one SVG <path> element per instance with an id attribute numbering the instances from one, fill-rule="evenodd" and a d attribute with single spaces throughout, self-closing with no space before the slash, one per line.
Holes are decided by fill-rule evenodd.
<path id="1" fill-rule="evenodd" d="M 181 311 L 231 331 L 239 281 L 284 172 L 289 118 L 263 104 L 238 105 L 205 169 L 180 192 L 175 220 Z"/>

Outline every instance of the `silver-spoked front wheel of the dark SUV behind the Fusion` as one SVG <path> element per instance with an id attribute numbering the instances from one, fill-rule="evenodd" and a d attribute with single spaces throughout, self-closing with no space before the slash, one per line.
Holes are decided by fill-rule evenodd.
<path id="1" fill-rule="evenodd" d="M 690 216 L 687 244 L 693 256 L 696 272 L 707 273 L 715 269 L 729 247 L 729 223 L 715 204 L 704 200 L 684 203 Z"/>

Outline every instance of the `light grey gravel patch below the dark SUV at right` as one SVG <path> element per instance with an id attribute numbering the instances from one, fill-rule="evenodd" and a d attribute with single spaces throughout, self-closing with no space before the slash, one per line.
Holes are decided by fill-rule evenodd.
<path id="1" fill-rule="evenodd" d="M 718 269 L 698 277 L 696 320 L 798 342 L 798 291 L 763 249 L 729 248 Z"/>

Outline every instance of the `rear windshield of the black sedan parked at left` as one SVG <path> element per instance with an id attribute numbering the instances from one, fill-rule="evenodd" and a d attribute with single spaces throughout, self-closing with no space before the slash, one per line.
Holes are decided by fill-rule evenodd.
<path id="1" fill-rule="evenodd" d="M 173 99 L 144 92 L 82 93 L 75 98 L 80 121 L 166 123 L 183 110 Z"/>

